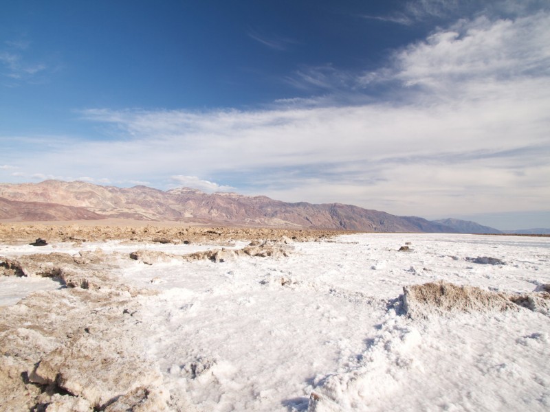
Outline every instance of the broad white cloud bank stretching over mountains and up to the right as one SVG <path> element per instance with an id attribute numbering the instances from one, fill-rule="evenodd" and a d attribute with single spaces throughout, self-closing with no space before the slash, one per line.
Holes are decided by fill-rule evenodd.
<path id="1" fill-rule="evenodd" d="M 29 176 L 79 170 L 401 215 L 544 211 L 549 68 L 548 12 L 476 16 L 395 51 L 377 71 L 318 70 L 320 87 L 340 95 L 247 111 L 88 109 L 80 115 L 108 127 L 109 140 L 60 138 L 11 163 Z"/>

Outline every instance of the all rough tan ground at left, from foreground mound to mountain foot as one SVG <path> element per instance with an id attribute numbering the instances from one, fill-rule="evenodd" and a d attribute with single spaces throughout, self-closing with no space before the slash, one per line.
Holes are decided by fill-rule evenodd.
<path id="1" fill-rule="evenodd" d="M 321 240 L 331 231 L 175 227 L 52 227 L 0 225 L 0 240 L 28 244 L 128 240 L 131 242 L 234 242 L 255 239 L 242 249 L 214 249 L 187 255 L 137 250 L 107 255 L 102 250 L 0 256 L 0 275 L 51 277 L 66 288 L 39 292 L 0 308 L 0 409 L 2 411 L 166 411 L 170 406 L 158 366 L 144 358 L 134 317 L 140 296 L 154 290 L 120 283 L 117 260 L 145 264 L 166 260 L 212 260 L 239 255 L 285 256 L 287 240 Z M 38 251 L 38 249 L 37 249 Z M 188 410 L 191 410 L 188 407 Z"/>

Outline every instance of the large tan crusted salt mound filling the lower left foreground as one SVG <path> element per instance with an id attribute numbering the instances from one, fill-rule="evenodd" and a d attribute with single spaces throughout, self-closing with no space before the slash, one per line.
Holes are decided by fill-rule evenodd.
<path id="1" fill-rule="evenodd" d="M 2 260 L 5 274 L 56 275 L 74 287 L 0 308 L 0 409 L 168 410 L 162 374 L 144 357 L 137 328 L 138 297 L 156 292 L 120 285 L 93 261 L 61 254 Z"/>

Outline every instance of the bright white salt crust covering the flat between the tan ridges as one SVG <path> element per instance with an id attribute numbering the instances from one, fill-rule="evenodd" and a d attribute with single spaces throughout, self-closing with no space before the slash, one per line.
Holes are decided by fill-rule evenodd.
<path id="1" fill-rule="evenodd" d="M 397 252 L 406 242 L 412 251 Z M 162 290 L 140 297 L 134 316 L 176 400 L 199 411 L 306 411 L 314 391 L 325 399 L 310 407 L 318 412 L 550 409 L 550 317 L 522 309 L 412 320 L 395 310 L 403 286 L 440 279 L 531 292 L 550 283 L 549 238 L 364 234 L 292 247 L 289 258 L 221 263 L 120 255 L 122 282 Z M 0 255 L 82 249 L 12 248 Z M 478 256 L 505 265 L 465 260 Z"/>

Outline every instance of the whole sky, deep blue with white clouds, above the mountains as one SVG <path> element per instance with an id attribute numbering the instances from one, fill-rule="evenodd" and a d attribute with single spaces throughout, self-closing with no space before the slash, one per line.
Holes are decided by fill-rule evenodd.
<path id="1" fill-rule="evenodd" d="M 3 1 L 0 181 L 550 227 L 550 1 Z"/>

